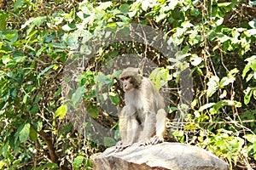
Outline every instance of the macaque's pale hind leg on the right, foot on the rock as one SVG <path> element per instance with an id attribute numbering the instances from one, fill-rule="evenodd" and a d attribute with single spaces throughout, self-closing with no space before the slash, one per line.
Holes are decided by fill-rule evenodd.
<path id="1" fill-rule="evenodd" d="M 150 144 L 158 144 L 164 142 L 164 133 L 166 130 L 166 111 L 160 109 L 156 115 L 156 134 L 150 139 Z"/>

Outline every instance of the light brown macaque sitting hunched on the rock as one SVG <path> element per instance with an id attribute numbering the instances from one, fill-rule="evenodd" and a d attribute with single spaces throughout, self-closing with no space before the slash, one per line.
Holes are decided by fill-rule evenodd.
<path id="1" fill-rule="evenodd" d="M 121 141 L 116 151 L 131 144 L 158 144 L 164 141 L 166 111 L 164 99 L 140 69 L 128 67 L 120 75 L 125 91 L 125 107 L 119 113 Z"/>

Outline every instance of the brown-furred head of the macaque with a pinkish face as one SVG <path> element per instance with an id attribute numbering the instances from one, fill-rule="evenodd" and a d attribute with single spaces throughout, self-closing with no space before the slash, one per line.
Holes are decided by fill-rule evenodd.
<path id="1" fill-rule="evenodd" d="M 128 67 L 122 71 L 120 81 L 123 84 L 125 92 L 131 92 L 135 88 L 139 88 L 142 83 L 143 75 L 140 69 Z"/>

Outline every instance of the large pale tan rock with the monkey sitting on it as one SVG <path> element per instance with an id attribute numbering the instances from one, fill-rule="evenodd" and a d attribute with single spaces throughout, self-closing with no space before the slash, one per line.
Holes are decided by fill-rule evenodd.
<path id="1" fill-rule="evenodd" d="M 148 146 L 133 144 L 123 151 L 114 147 L 90 157 L 96 170 L 228 170 L 226 162 L 211 152 L 189 144 L 162 143 Z"/>

